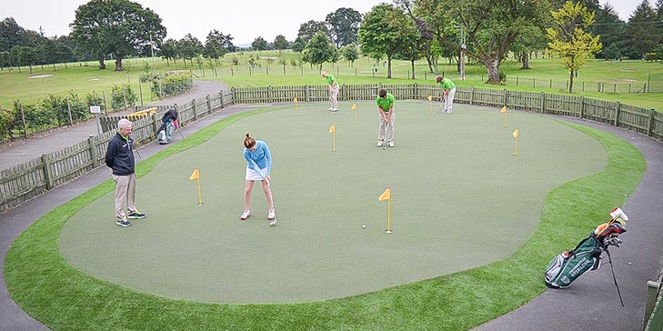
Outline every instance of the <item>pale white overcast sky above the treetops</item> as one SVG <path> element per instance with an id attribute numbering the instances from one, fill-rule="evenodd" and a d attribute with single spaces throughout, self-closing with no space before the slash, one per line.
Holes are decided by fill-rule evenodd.
<path id="1" fill-rule="evenodd" d="M 134 0 L 136 1 L 136 0 Z M 323 21 L 329 13 L 350 7 L 361 14 L 381 2 L 379 0 L 137 0 L 154 10 L 166 26 L 167 37 L 180 39 L 192 34 L 205 43 L 206 35 L 216 29 L 232 35 L 233 44 L 250 44 L 258 36 L 273 42 L 276 35 L 294 41 L 299 25 L 310 20 Z M 622 20 L 628 21 L 641 0 L 608 0 Z M 651 1 L 650 1 L 651 2 Z M 30 30 L 42 27 L 46 36 L 68 35 L 75 9 L 87 0 L 3 0 L 0 19 L 14 17 L 16 23 Z M 600 1 L 605 4 L 605 0 Z"/>

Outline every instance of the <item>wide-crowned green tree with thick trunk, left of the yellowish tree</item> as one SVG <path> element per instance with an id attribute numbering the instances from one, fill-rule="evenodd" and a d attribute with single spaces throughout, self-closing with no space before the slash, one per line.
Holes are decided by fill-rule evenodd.
<path id="1" fill-rule="evenodd" d="M 486 66 L 487 84 L 500 83 L 509 47 L 527 27 L 545 27 L 549 12 L 545 0 L 416 0 L 413 9 L 440 45 L 461 52 L 457 30 L 467 34 L 465 54 Z"/>

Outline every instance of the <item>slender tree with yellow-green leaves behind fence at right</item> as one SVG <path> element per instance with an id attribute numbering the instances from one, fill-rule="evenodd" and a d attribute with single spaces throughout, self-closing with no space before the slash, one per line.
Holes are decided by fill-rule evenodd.
<path id="1" fill-rule="evenodd" d="M 554 25 L 546 29 L 548 47 L 560 55 L 569 72 L 568 93 L 573 93 L 573 75 L 587 63 L 590 55 L 601 50 L 598 35 L 587 32 L 594 23 L 594 12 L 580 3 L 568 1 L 552 13 Z"/>

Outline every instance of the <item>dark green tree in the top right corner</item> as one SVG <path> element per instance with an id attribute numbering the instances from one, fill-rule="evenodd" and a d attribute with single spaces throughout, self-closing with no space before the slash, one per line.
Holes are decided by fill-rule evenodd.
<path id="1" fill-rule="evenodd" d="M 644 58 L 661 39 L 656 27 L 656 12 L 649 0 L 642 0 L 636 10 L 628 17 L 628 36 L 630 44 L 638 50 L 638 56 Z"/>

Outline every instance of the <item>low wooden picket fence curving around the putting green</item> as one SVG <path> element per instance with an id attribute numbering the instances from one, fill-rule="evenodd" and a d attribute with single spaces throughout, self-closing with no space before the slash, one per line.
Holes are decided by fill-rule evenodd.
<path id="1" fill-rule="evenodd" d="M 382 88 L 401 100 L 426 100 L 428 95 L 437 101 L 442 99 L 438 85 L 419 84 L 342 85 L 338 98 L 342 101 L 375 100 Z M 328 97 L 327 85 L 233 87 L 231 91 L 221 91 L 216 95 L 194 99 L 185 105 L 172 106 L 176 106 L 179 113 L 180 125 L 187 125 L 231 104 L 286 103 L 292 102 L 294 98 L 301 102 L 325 102 Z M 663 113 L 619 102 L 582 95 L 551 95 L 477 87 L 458 87 L 455 101 L 497 108 L 506 105 L 510 109 L 578 117 L 623 127 L 663 141 Z M 161 116 L 172 106 L 160 106 L 156 114 L 133 120 L 132 136 L 138 145 L 156 138 Z M 104 165 L 105 148 L 115 134 L 120 118 L 122 116 L 104 116 L 101 118 L 104 134 L 0 172 L 0 212 Z"/>

